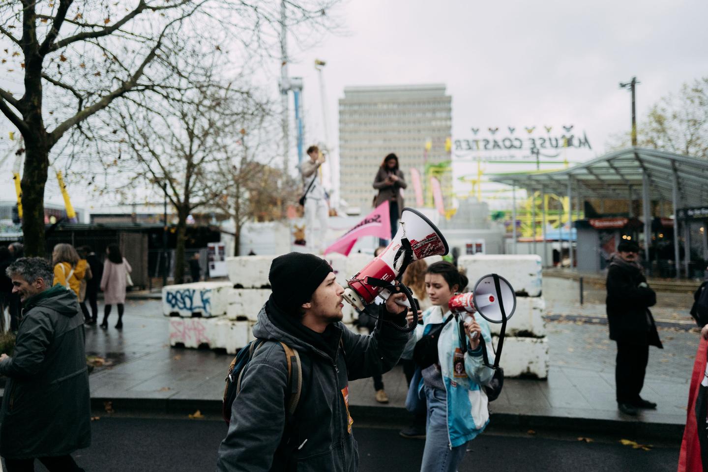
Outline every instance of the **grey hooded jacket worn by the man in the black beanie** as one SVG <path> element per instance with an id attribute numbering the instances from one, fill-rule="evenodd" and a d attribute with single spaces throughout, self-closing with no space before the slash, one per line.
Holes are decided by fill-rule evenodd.
<path id="1" fill-rule="evenodd" d="M 372 335 L 352 333 L 343 325 L 336 359 L 275 326 L 258 313 L 256 338 L 270 340 L 253 355 L 232 420 L 219 447 L 218 472 L 328 471 L 359 468 L 357 442 L 348 408 L 348 384 L 398 362 L 407 333 L 380 323 Z M 286 422 L 287 364 L 278 341 L 297 349 L 302 363 L 302 393 Z"/>

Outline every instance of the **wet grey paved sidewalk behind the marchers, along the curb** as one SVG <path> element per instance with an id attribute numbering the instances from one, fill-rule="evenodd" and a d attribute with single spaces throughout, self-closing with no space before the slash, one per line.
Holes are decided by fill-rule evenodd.
<path id="1" fill-rule="evenodd" d="M 555 305 L 558 310 L 560 305 Z M 575 307 L 577 313 L 598 316 L 599 306 Z M 171 348 L 167 318 L 160 302 L 128 300 L 124 328 L 87 328 L 86 351 L 105 359 L 89 377 L 94 406 L 107 401 L 113 408 L 166 408 L 217 410 L 222 399 L 225 371 L 232 355 L 211 350 Z M 552 313 L 554 313 L 552 311 Z M 669 425 L 673 434 L 685 423 L 685 405 L 693 358 L 698 345 L 696 330 L 661 328 L 664 349 L 651 348 L 643 396 L 656 401 L 655 411 L 638 418 L 617 411 L 615 403 L 615 344 L 607 339 L 607 326 L 573 321 L 547 324 L 550 372 L 547 380 L 506 379 L 500 398 L 491 403 L 493 415 L 518 421 L 576 422 L 598 424 Z M 384 374 L 390 402 L 374 399 L 371 379 L 353 381 L 353 411 L 367 418 L 396 417 L 405 421 L 407 391 L 400 367 Z M 603 423 L 604 422 L 604 423 Z M 528 424 L 531 424 L 528 422 Z M 577 423 L 580 425 L 581 423 Z"/>

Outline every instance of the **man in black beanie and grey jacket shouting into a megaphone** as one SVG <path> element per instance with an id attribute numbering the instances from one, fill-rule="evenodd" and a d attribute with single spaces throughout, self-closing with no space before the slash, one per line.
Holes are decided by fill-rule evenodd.
<path id="1" fill-rule="evenodd" d="M 290 253 L 270 266 L 273 293 L 258 313 L 258 347 L 232 404 L 227 437 L 219 446 L 218 472 L 358 471 L 359 452 L 349 414 L 349 381 L 387 372 L 398 362 L 408 333 L 406 309 L 393 294 L 371 335 L 341 323 L 343 287 L 316 255 Z M 287 413 L 285 343 L 297 350 L 302 390 Z"/>

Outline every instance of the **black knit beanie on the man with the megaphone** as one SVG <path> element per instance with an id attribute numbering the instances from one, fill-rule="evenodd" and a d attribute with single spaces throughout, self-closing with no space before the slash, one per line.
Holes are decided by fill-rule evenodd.
<path id="1" fill-rule="evenodd" d="M 273 259 L 268 273 L 275 303 L 283 310 L 306 303 L 329 272 L 332 272 L 331 265 L 314 254 L 279 255 Z"/>

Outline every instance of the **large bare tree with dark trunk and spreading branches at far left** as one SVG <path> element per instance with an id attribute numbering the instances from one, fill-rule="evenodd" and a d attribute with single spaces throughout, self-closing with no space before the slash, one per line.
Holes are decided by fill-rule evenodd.
<path id="1" fill-rule="evenodd" d="M 292 25 L 325 23 L 327 0 L 288 1 Z M 0 40 L 8 74 L 0 111 L 26 143 L 22 204 L 25 251 L 44 255 L 44 191 L 52 149 L 119 99 L 171 88 L 200 51 L 240 43 L 268 50 L 277 41 L 280 5 L 256 0 L 8 0 Z M 191 54 L 188 54 L 191 52 Z M 196 59 L 195 59 L 196 58 Z"/>

